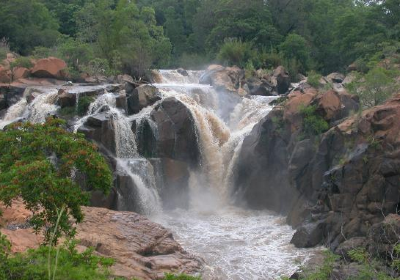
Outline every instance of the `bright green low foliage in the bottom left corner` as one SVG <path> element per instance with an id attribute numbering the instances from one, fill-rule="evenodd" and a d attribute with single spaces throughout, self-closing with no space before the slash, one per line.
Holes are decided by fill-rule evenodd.
<path id="1" fill-rule="evenodd" d="M 1 280 L 49 279 L 50 275 L 50 279 L 54 280 L 110 279 L 108 268 L 114 261 L 93 254 L 93 249 L 78 253 L 76 241 L 71 241 L 59 248 L 41 246 L 38 249 L 29 249 L 25 253 L 7 254 L 3 257 L 5 252 L 1 247 L 3 240 L 6 239 L 0 235 Z M 9 247 L 6 249 L 8 250 Z M 57 262 L 54 276 L 49 275 L 49 260 Z"/>

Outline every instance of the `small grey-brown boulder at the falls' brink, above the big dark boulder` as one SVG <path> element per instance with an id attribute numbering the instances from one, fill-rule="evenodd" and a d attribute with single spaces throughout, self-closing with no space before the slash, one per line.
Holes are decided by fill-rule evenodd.
<path id="1" fill-rule="evenodd" d="M 153 105 L 160 99 L 161 97 L 156 87 L 141 85 L 135 88 L 132 93 L 127 92 L 128 114 L 137 114 L 143 108 Z"/>

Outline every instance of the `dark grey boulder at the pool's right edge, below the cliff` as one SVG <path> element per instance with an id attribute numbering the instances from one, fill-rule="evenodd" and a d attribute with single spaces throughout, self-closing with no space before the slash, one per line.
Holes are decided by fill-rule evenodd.
<path id="1" fill-rule="evenodd" d="M 297 248 L 310 248 L 323 241 L 325 230 L 323 222 L 310 223 L 301 226 L 293 235 L 290 243 Z"/>

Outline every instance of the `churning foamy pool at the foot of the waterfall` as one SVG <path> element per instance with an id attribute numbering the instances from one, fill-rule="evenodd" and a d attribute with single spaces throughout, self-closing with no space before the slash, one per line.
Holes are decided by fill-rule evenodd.
<path id="1" fill-rule="evenodd" d="M 178 209 L 153 220 L 172 230 L 188 252 L 204 258 L 204 280 L 275 280 L 292 275 L 313 254 L 291 245 L 294 231 L 285 218 L 267 211 Z"/>

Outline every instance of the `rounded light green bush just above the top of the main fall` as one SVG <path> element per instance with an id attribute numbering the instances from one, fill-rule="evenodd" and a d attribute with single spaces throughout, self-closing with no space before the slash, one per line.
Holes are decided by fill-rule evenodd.
<path id="1" fill-rule="evenodd" d="M 227 39 L 221 46 L 217 58 L 224 64 L 237 65 L 244 68 L 254 55 L 251 43 L 237 39 Z"/>

